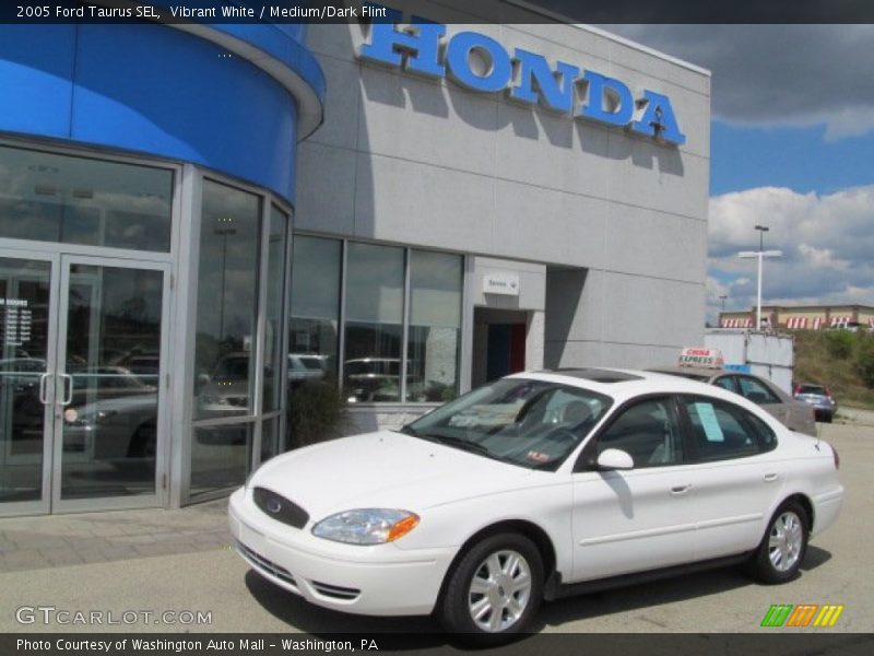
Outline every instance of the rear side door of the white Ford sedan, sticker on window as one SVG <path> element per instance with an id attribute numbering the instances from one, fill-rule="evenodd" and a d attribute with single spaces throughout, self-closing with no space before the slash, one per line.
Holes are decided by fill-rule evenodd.
<path id="1" fill-rule="evenodd" d="M 786 479 L 771 453 L 773 431 L 746 409 L 711 397 L 683 395 L 680 411 L 694 460 L 686 468 L 695 501 L 688 516 L 697 526 L 694 559 L 754 549 Z"/>

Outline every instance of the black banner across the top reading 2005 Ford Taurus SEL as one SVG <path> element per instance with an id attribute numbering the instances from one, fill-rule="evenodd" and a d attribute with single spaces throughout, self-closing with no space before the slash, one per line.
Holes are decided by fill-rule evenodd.
<path id="1" fill-rule="evenodd" d="M 869 0 L 21 0 L 0 3 L 0 23 L 394 22 L 423 7 L 440 23 L 874 23 Z"/>

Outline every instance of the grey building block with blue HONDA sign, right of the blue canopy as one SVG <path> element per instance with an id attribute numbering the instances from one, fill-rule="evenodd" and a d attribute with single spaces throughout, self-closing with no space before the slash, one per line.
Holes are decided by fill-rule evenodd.
<path id="1" fill-rule="evenodd" d="M 308 34 L 328 92 L 299 149 L 291 348 L 323 358 L 351 430 L 701 343 L 709 73 L 534 14 L 425 17 Z"/>

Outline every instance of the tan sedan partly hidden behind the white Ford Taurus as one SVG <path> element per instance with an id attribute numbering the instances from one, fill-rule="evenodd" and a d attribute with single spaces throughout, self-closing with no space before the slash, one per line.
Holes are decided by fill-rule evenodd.
<path id="1" fill-rule="evenodd" d="M 790 430 L 816 435 L 816 422 L 810 406 L 794 400 L 777 385 L 760 376 L 696 366 L 661 366 L 650 371 L 684 376 L 740 394 L 745 399 L 761 406 Z"/>

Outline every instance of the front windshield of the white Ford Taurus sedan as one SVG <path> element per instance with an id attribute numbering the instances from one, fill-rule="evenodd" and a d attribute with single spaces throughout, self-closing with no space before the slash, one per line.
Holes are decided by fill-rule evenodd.
<path id="1" fill-rule="evenodd" d="M 609 397 L 588 389 L 504 378 L 437 408 L 401 432 L 520 467 L 555 471 L 611 403 Z"/>

